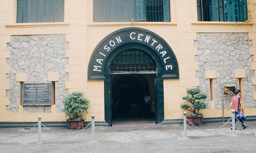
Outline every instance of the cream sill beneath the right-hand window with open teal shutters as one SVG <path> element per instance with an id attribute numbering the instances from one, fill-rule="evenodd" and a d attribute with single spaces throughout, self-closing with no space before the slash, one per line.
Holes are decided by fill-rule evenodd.
<path id="1" fill-rule="evenodd" d="M 244 26 L 244 25 L 253 25 L 251 22 L 212 22 L 212 21 L 198 21 L 192 22 L 191 25 L 231 25 L 231 26 Z"/>

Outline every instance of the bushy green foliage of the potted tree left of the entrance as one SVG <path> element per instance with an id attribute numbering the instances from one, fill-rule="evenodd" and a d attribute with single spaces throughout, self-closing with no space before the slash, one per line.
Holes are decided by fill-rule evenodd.
<path id="1" fill-rule="evenodd" d="M 88 113 L 90 100 L 81 91 L 74 91 L 64 98 L 63 112 L 70 120 L 80 120 L 84 113 Z"/>

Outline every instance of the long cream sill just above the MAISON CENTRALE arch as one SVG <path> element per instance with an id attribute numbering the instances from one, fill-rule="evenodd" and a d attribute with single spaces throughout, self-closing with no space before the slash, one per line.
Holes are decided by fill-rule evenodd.
<path id="1" fill-rule="evenodd" d="M 177 26 L 174 22 L 95 22 L 88 23 L 88 26 L 116 26 L 116 25 L 166 25 L 166 26 Z"/>

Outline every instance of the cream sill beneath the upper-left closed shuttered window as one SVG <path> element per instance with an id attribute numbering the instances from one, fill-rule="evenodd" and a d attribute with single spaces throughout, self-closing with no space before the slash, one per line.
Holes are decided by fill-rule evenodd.
<path id="1" fill-rule="evenodd" d="M 6 28 L 29 28 L 29 27 L 52 27 L 52 26 L 69 26 L 69 23 L 52 22 L 52 23 L 7 23 Z"/>

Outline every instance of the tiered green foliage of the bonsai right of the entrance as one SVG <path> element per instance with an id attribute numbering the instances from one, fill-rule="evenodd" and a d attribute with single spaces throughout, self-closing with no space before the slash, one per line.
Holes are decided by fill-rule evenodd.
<path id="1" fill-rule="evenodd" d="M 201 109 L 207 108 L 207 104 L 204 100 L 207 99 L 207 94 L 202 93 L 201 88 L 187 88 L 187 96 L 183 96 L 182 99 L 189 102 L 191 105 L 183 103 L 180 108 L 192 112 L 190 116 L 203 116 L 199 113 Z"/>

